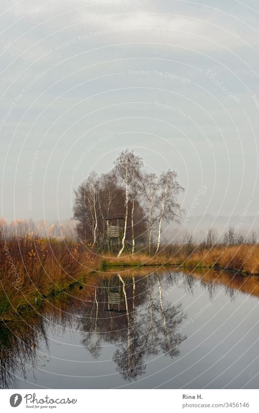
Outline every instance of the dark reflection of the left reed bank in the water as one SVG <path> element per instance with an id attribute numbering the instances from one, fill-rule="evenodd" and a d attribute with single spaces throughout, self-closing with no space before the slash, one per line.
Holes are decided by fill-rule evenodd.
<path id="1" fill-rule="evenodd" d="M 84 281 L 85 287 L 78 284 L 67 292 L 50 296 L 40 305 L 27 307 L 21 317 L 0 319 L 0 388 L 17 388 L 17 376 L 24 379 L 38 367 L 38 362 L 46 363 L 48 355 L 37 354 L 37 350 L 39 341 L 45 342 L 48 350 L 50 323 L 58 334 L 65 326 L 75 328 L 75 314 L 92 301 L 92 290 L 87 285 L 93 285 L 94 280 L 87 276 Z"/>

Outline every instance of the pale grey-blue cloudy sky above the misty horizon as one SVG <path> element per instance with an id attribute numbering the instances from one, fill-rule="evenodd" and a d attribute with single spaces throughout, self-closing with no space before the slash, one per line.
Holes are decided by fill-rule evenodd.
<path id="1" fill-rule="evenodd" d="M 255 0 L 1 2 L 0 215 L 71 217 L 126 147 L 193 216 L 257 215 L 258 20 Z"/>

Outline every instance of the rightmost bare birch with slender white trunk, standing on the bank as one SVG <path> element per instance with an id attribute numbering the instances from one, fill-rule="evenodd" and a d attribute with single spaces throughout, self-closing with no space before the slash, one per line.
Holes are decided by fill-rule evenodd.
<path id="1" fill-rule="evenodd" d="M 169 169 L 167 172 L 162 172 L 158 182 L 160 196 L 157 247 L 155 253 L 158 252 L 160 246 L 161 226 L 163 220 L 179 223 L 179 217 L 181 216 L 182 211 L 176 200 L 179 193 L 184 191 L 184 188 L 179 185 L 176 178 L 177 173 Z"/>

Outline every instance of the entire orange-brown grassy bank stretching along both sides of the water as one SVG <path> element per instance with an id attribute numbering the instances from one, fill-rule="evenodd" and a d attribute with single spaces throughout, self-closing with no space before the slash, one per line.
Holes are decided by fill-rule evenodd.
<path id="1" fill-rule="evenodd" d="M 67 290 L 93 269 L 108 271 L 111 267 L 138 269 L 145 266 L 176 268 L 213 268 L 259 274 L 258 245 L 170 245 L 156 255 L 124 254 L 120 258 L 101 258 L 72 240 L 33 238 L 31 236 L 0 238 L 0 317 L 8 319 L 44 298 Z"/>

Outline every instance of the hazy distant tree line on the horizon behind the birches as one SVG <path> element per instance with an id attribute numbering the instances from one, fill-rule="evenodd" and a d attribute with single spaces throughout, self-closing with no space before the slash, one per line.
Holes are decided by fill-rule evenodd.
<path id="1" fill-rule="evenodd" d="M 109 174 L 107 174 L 109 175 Z M 110 182 L 110 181 L 109 181 Z M 121 188 L 118 188 L 121 189 Z M 119 192 L 117 193 L 119 194 Z M 120 197 L 118 196 L 120 199 Z M 119 202 L 118 199 L 118 202 Z M 145 210 L 141 209 L 141 205 L 139 202 L 136 202 L 137 206 L 135 205 L 135 212 L 136 215 L 134 214 L 133 217 L 135 216 L 134 220 L 134 237 L 135 241 L 137 244 L 143 244 L 144 242 L 147 243 L 148 239 L 148 227 L 147 227 L 147 221 L 145 217 Z M 124 206 L 122 205 L 121 208 L 123 209 Z M 132 203 L 129 201 L 129 210 L 132 212 Z M 115 215 L 120 214 L 121 210 L 119 209 L 119 203 L 114 204 L 114 213 Z M 100 236 L 103 236 L 104 239 L 104 246 L 105 246 L 105 236 L 106 236 L 106 226 L 104 225 L 104 222 L 102 219 L 99 220 L 100 223 L 103 225 L 103 233 L 101 233 Z M 81 223 L 78 221 L 76 224 L 76 236 L 80 238 L 80 240 L 88 239 L 90 240 L 92 232 L 90 231 L 90 226 L 91 226 L 91 221 L 86 218 L 86 223 L 89 225 L 86 225 L 84 227 L 84 222 Z M 82 226 L 81 226 L 82 225 Z M 84 228 L 84 232 L 82 231 L 82 228 Z M 128 216 L 128 229 L 132 230 L 131 228 L 131 214 Z M 157 229 L 157 226 L 156 226 Z M 9 240 L 10 237 L 16 236 L 17 238 L 22 238 L 24 236 L 29 236 L 33 235 L 34 238 L 36 237 L 42 237 L 42 238 L 57 238 L 57 239 L 71 239 L 74 238 L 73 235 L 73 230 L 72 228 L 69 227 L 70 232 L 65 231 L 66 228 L 63 229 L 63 224 L 56 223 L 52 224 L 47 227 L 46 221 L 40 220 L 36 224 L 32 219 L 26 220 L 26 219 L 16 219 L 15 221 L 11 221 L 8 223 L 6 219 L 0 217 L 0 239 L 6 239 Z M 81 232 L 82 231 L 82 232 Z M 88 233 L 89 237 L 85 237 L 85 235 Z M 156 234 L 156 232 L 155 232 Z M 153 251 L 156 251 L 157 248 L 157 239 L 153 240 Z M 90 242 L 90 241 L 89 241 Z M 96 241 L 96 244 L 98 244 L 98 241 Z M 126 242 L 125 242 L 127 248 L 132 249 L 133 243 L 132 243 L 132 231 L 127 232 L 126 236 Z M 147 243 L 148 244 L 148 243 Z M 204 250 L 208 248 L 212 248 L 214 246 L 223 246 L 224 248 L 235 246 L 235 245 L 242 245 L 242 244 L 247 244 L 247 245 L 258 245 L 259 244 L 259 236 L 255 231 L 250 231 L 249 233 L 243 235 L 239 231 L 237 231 L 237 227 L 234 225 L 230 225 L 228 229 L 226 230 L 225 233 L 222 235 L 219 235 L 218 231 L 214 229 L 213 227 L 209 227 L 207 230 L 207 233 L 205 236 L 202 238 L 197 238 L 195 239 L 193 237 L 193 234 L 191 233 L 184 233 L 181 239 L 178 238 L 178 240 L 174 240 L 173 242 L 167 242 L 165 239 L 163 241 L 163 244 L 160 244 L 160 249 L 163 249 L 165 254 L 167 255 L 172 255 L 175 253 L 175 251 L 178 251 L 179 245 L 184 246 L 184 251 L 188 253 L 188 255 L 196 250 Z M 176 250 L 175 250 L 176 249 Z"/>

